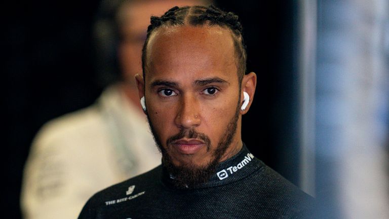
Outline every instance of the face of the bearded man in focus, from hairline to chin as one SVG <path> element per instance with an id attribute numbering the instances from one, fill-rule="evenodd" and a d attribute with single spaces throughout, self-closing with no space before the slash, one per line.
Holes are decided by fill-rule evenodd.
<path id="1" fill-rule="evenodd" d="M 161 28 L 146 54 L 147 115 L 164 159 L 200 169 L 236 154 L 240 85 L 231 33 L 207 25 Z"/>

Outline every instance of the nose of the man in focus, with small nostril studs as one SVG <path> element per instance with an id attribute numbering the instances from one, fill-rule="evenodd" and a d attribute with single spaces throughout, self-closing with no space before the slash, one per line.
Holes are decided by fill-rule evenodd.
<path id="1" fill-rule="evenodd" d="M 175 123 L 179 128 L 190 129 L 201 123 L 199 100 L 191 94 L 180 97 Z"/>

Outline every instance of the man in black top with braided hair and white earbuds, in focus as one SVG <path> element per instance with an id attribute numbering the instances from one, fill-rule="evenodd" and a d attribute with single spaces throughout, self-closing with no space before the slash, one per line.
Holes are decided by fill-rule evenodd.
<path id="1" fill-rule="evenodd" d="M 151 17 L 136 82 L 162 165 L 97 193 L 79 219 L 308 217 L 313 198 L 242 142 L 256 75 L 241 31 L 212 6 Z"/>

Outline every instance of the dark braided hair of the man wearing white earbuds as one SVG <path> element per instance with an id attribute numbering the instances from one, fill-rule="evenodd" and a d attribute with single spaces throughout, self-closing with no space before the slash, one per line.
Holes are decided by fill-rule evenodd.
<path id="1" fill-rule="evenodd" d="M 151 16 L 150 25 L 147 28 L 146 41 L 142 50 L 143 79 L 145 79 L 146 48 L 153 31 L 160 27 L 180 26 L 180 25 L 209 25 L 227 28 L 232 32 L 235 53 L 237 56 L 238 79 L 242 82 L 246 72 L 246 46 L 242 36 L 242 24 L 238 16 L 232 12 L 224 12 L 214 6 L 186 6 L 173 7 L 161 17 Z"/>

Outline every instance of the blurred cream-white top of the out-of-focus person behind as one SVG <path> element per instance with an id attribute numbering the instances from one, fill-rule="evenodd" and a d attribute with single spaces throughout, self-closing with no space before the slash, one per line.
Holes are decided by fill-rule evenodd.
<path id="1" fill-rule="evenodd" d="M 97 191 L 161 163 L 146 117 L 125 98 L 111 86 L 38 132 L 24 170 L 25 218 L 76 218 Z"/>

